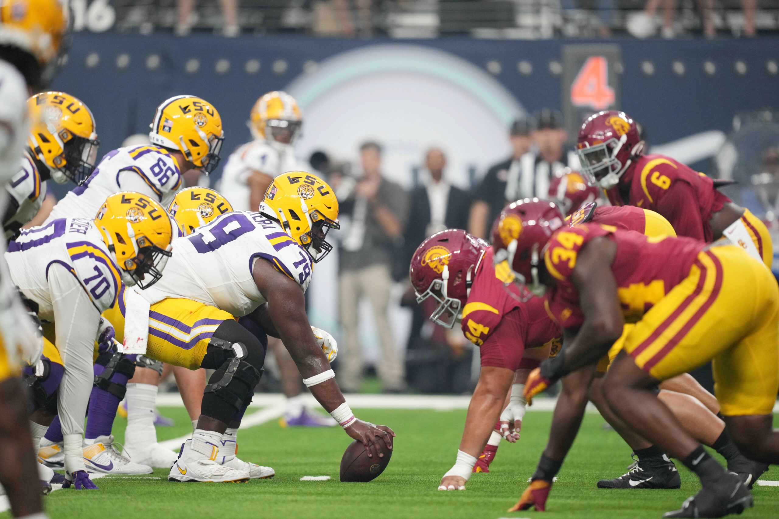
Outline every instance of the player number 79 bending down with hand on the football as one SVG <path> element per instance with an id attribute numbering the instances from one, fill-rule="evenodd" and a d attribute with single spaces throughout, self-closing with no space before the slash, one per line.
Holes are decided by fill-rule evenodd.
<path id="1" fill-rule="evenodd" d="M 170 279 L 141 291 L 150 303 L 146 355 L 216 370 L 197 429 L 171 468 L 170 481 L 231 482 L 275 474 L 235 457 L 238 426 L 261 377 L 265 348 L 234 316 L 251 315 L 270 335 L 284 339 L 312 394 L 349 436 L 363 442 L 369 456 L 381 455 L 375 437 L 392 444 L 388 427 L 354 418 L 305 314 L 312 265 L 332 249 L 326 234 L 338 228 L 337 216 L 338 202 L 327 184 L 300 171 L 284 174 L 273 181 L 260 212 L 227 212 L 175 239 Z M 119 335 L 129 311 L 120 304 L 105 314 Z"/>

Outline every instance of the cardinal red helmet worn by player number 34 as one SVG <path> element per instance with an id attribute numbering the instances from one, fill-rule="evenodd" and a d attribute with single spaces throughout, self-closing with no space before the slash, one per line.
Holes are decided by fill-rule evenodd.
<path id="1" fill-rule="evenodd" d="M 538 265 L 549 238 L 563 226 L 562 212 L 555 202 L 525 198 L 509 204 L 492 227 L 495 275 L 512 279 L 523 290 L 523 301 L 541 295 L 545 287 L 538 281 Z M 510 271 L 513 276 L 506 276 Z"/>

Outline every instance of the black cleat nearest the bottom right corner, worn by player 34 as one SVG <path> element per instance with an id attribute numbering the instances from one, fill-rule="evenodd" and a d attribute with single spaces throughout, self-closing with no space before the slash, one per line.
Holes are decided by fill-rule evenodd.
<path id="1" fill-rule="evenodd" d="M 753 506 L 752 494 L 735 474 L 724 475 L 721 482 L 704 486 L 695 496 L 687 498 L 679 510 L 663 517 L 724 517 L 741 514 Z"/>

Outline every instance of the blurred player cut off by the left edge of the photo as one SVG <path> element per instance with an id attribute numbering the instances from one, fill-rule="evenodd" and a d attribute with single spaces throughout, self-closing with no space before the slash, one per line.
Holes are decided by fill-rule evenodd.
<path id="1" fill-rule="evenodd" d="M 19 172 L 28 134 L 25 101 L 54 75 L 69 11 L 57 0 L 4 0 L 0 14 L 0 184 L 5 186 Z M 4 214 L 5 207 L 0 204 L 0 208 Z M 0 250 L 5 251 L 5 240 L 0 240 Z M 5 261 L 0 260 L 0 443 L 6 453 L 0 483 L 12 515 L 47 517 L 42 511 L 25 396 L 18 377 L 17 350 L 34 362 L 41 348 L 25 314 Z"/>

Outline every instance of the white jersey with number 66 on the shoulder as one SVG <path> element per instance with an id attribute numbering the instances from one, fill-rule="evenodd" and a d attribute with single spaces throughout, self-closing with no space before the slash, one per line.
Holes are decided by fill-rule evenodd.
<path id="1" fill-rule="evenodd" d="M 119 191 L 136 191 L 129 188 L 126 180 L 122 185 L 120 177 L 124 172 L 137 174 L 148 187 L 143 194 L 155 198 L 166 209 L 182 186 L 178 163 L 166 150 L 157 146 L 115 149 L 106 153 L 86 182 L 57 202 L 46 223 L 58 218 L 92 219 L 108 196 Z"/>

